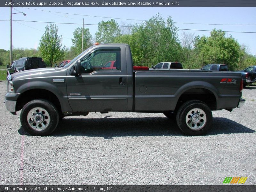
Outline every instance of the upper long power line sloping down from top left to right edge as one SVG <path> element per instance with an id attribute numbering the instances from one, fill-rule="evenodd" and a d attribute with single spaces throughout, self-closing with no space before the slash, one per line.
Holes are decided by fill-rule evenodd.
<path id="1" fill-rule="evenodd" d="M 86 16 L 86 17 L 99 17 L 99 18 L 107 18 L 107 19 L 121 19 L 121 20 L 133 20 L 133 21 L 147 21 L 147 20 L 139 20 L 139 19 L 127 19 L 127 18 L 104 17 L 104 16 L 95 16 L 95 15 L 83 15 L 83 14 L 77 14 L 77 13 L 65 13 L 65 12 L 47 11 L 47 10 L 28 8 L 28 7 L 22 7 L 22 8 L 32 9 L 32 10 L 36 10 L 36 11 L 55 12 L 55 13 L 61 13 L 61 14 L 79 15 L 79 16 Z M 212 23 L 187 23 L 187 22 L 173 22 L 173 23 L 193 24 L 193 25 L 231 25 L 231 26 L 232 25 L 233 26 L 255 26 L 256 25 L 256 24 L 212 24 Z"/>

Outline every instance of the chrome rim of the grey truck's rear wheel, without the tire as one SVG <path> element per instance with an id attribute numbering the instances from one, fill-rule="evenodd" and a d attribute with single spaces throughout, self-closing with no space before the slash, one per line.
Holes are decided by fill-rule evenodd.
<path id="1" fill-rule="evenodd" d="M 193 108 L 186 115 L 186 124 L 192 130 L 203 129 L 206 124 L 206 114 L 203 109 Z"/>

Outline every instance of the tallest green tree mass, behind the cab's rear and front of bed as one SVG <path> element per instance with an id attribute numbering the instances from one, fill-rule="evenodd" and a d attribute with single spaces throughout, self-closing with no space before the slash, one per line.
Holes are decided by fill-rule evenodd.
<path id="1" fill-rule="evenodd" d="M 134 65 L 151 66 L 162 61 L 180 60 L 178 30 L 171 17 L 165 21 L 158 14 L 133 27 L 131 35 L 117 37 L 115 42 L 131 46 Z"/>

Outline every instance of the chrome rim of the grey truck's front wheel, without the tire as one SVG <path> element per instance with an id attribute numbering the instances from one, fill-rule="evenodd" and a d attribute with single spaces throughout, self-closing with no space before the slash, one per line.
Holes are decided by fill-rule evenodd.
<path id="1" fill-rule="evenodd" d="M 50 120 L 48 111 L 41 107 L 31 109 L 27 115 L 28 125 L 36 131 L 45 130 L 49 126 Z"/>

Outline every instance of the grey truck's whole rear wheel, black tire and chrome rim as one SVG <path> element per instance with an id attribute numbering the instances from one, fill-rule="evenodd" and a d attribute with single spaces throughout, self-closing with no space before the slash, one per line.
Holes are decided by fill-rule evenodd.
<path id="1" fill-rule="evenodd" d="M 201 135 L 212 126 L 212 111 L 206 103 L 190 100 L 179 108 L 176 120 L 182 132 Z"/>

